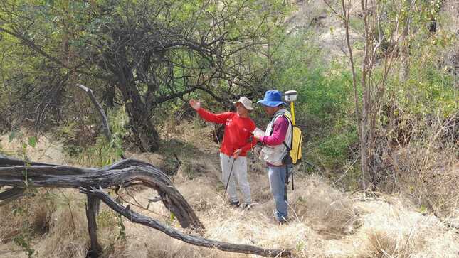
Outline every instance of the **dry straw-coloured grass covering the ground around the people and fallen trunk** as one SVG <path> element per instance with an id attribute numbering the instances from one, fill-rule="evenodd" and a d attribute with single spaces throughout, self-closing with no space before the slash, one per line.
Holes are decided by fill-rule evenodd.
<path id="1" fill-rule="evenodd" d="M 176 144 L 195 146 L 193 154 L 180 153 L 181 167 L 172 178 L 186 200 L 206 226 L 205 237 L 239 244 L 254 244 L 266 248 L 292 249 L 295 257 L 457 257 L 459 235 L 445 227 L 436 217 L 424 214 L 416 202 L 400 195 L 383 196 L 388 201 L 366 200 L 356 194 L 346 194 L 330 186 L 320 176 L 297 176 L 295 191 L 289 190 L 290 224 L 273 221 L 273 200 L 268 176 L 257 164 L 249 172 L 254 205 L 240 210 L 225 205 L 217 146 L 199 144 L 207 141 L 202 134 L 184 133 Z M 187 137 L 191 137 L 189 139 Z M 194 145 L 196 144 L 196 145 Z M 197 158 L 196 156 L 199 156 Z M 161 161 L 161 156 L 154 156 Z M 140 157 L 150 160 L 152 156 Z M 157 161 L 157 162 L 159 162 Z M 46 192 L 46 191 L 45 191 Z M 88 249 L 85 222 L 85 198 L 76 190 L 53 190 L 53 198 L 44 193 L 23 199 L 29 205 L 31 225 L 35 227 L 32 247 L 38 257 L 84 257 Z M 134 198 L 147 205 L 147 198 L 157 195 L 154 190 L 139 188 Z M 129 196 L 125 195 L 127 199 Z M 49 203 L 49 207 L 43 203 Z M 0 208 L 1 257 L 24 257 L 23 251 L 10 240 L 14 228 L 23 217 L 6 219 L 11 205 Z M 51 207 L 51 208 L 50 208 Z M 170 222 L 169 211 L 162 203 L 152 203 L 149 212 L 131 205 L 133 210 Z M 117 240 L 119 227 L 112 211 L 102 205 L 97 218 L 99 241 L 104 257 L 250 257 L 216 249 L 194 247 L 174 240 L 162 232 L 123 220 L 127 240 Z M 40 233 L 38 233 L 40 232 Z M 1 237 L 0 237 L 1 238 Z M 10 241 L 10 242 L 9 242 Z M 15 251 L 16 252 L 11 252 Z"/>

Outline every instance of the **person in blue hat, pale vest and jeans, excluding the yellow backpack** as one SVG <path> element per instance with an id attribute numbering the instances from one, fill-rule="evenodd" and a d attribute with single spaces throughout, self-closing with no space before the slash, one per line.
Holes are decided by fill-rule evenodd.
<path id="1" fill-rule="evenodd" d="M 258 100 L 263 109 L 270 117 L 270 123 L 264 134 L 255 134 L 254 137 L 263 143 L 260 156 L 268 165 L 268 176 L 271 193 L 275 201 L 275 218 L 284 224 L 287 222 L 287 181 L 289 167 L 283 162 L 289 154 L 292 137 L 292 124 L 286 116 L 290 112 L 285 109 L 285 102 L 282 101 L 282 93 L 278 90 L 265 92 L 263 100 Z M 287 144 L 288 143 L 288 144 Z M 287 146 L 289 149 L 287 149 Z"/>

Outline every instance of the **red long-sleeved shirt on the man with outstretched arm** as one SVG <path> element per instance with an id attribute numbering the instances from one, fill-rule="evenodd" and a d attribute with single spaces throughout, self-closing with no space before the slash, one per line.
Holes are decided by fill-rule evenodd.
<path id="1" fill-rule="evenodd" d="M 221 142 L 220 151 L 228 156 L 233 156 L 234 151 L 242 149 L 239 156 L 246 156 L 247 151 L 256 144 L 255 137 L 250 139 L 255 123 L 250 117 L 240 117 L 237 113 L 225 112 L 213 114 L 200 108 L 198 114 L 206 121 L 225 124 L 225 133 Z"/>

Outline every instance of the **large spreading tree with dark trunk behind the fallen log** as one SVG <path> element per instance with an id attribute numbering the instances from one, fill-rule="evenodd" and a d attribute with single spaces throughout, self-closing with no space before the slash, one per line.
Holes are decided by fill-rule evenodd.
<path id="1" fill-rule="evenodd" d="M 68 78 L 102 82 L 107 107 L 125 104 L 140 148 L 154 151 L 159 104 L 196 90 L 220 102 L 255 92 L 263 67 L 248 60 L 282 29 L 287 7 L 278 0 L 5 1 L 0 31 L 56 68 L 58 83 L 44 102 L 60 100 Z"/>

